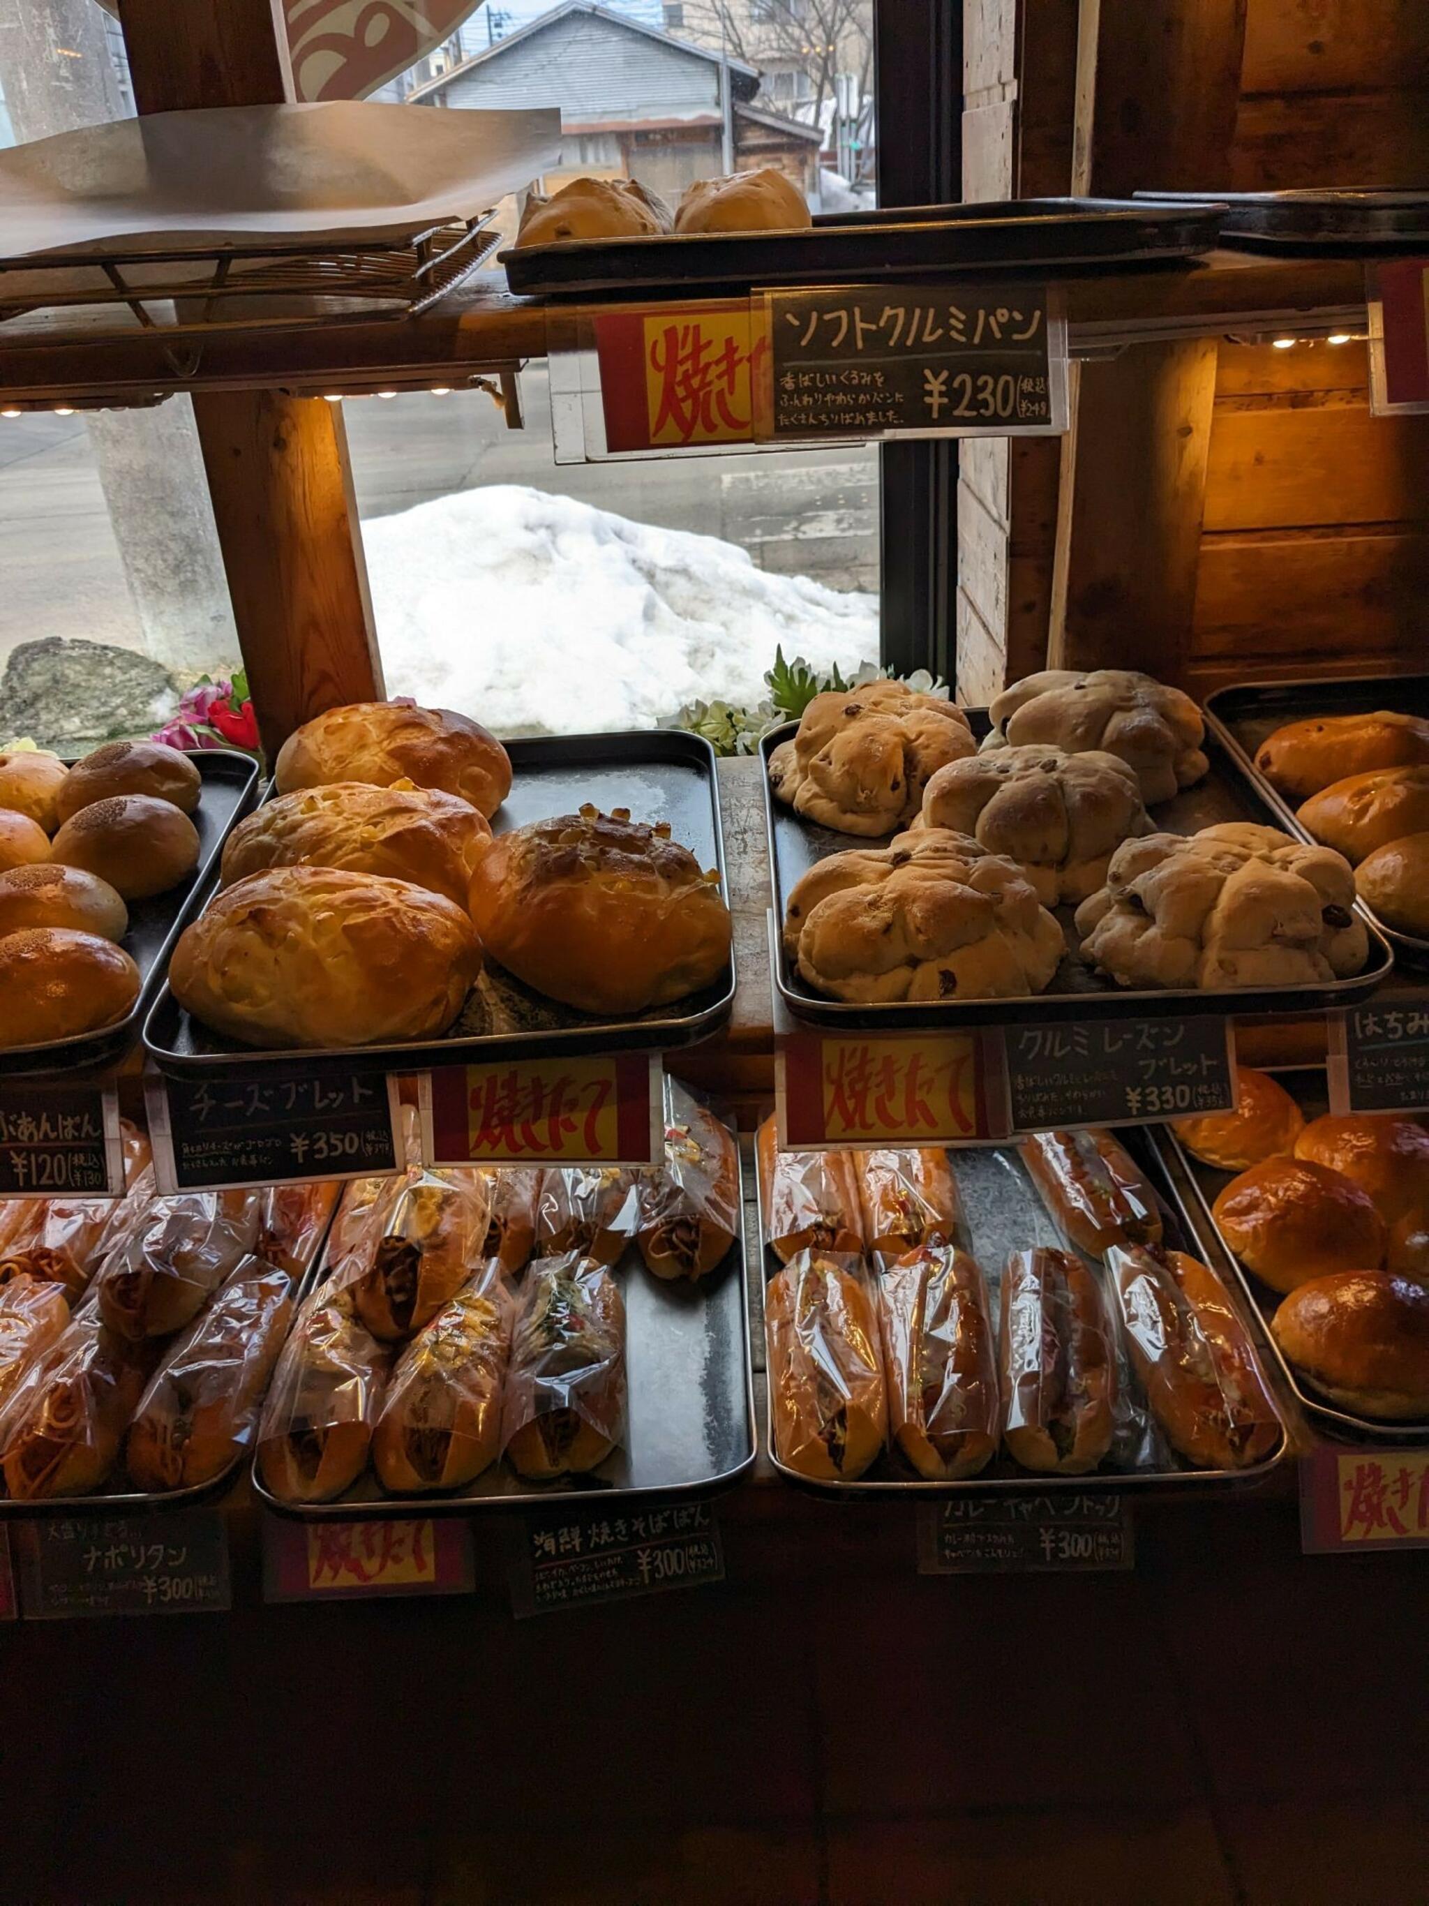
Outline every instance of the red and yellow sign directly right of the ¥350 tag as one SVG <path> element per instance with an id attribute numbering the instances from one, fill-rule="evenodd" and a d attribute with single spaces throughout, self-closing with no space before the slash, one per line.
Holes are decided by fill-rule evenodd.
<path id="1" fill-rule="evenodd" d="M 659 1056 L 440 1065 L 417 1079 L 427 1165 L 654 1165 L 665 1155 Z"/>

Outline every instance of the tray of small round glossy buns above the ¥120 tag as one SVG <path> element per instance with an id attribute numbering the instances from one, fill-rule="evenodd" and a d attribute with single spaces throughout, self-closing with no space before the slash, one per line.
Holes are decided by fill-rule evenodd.
<path id="1" fill-rule="evenodd" d="M 0 755 L 0 1073 L 99 1071 L 137 1044 L 255 799 L 257 762 L 229 749 Z"/>

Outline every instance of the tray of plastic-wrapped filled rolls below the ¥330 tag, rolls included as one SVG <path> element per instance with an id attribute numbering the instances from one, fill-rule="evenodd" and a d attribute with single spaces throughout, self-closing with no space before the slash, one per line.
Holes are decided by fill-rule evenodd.
<path id="1" fill-rule="evenodd" d="M 1286 1428 L 1141 1130 L 758 1138 L 774 1466 L 835 1496 L 1254 1487 Z"/>

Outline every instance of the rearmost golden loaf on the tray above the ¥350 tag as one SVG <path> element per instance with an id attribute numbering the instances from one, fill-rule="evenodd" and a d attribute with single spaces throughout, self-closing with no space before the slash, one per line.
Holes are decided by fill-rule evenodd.
<path id="1" fill-rule="evenodd" d="M 352 701 L 295 728 L 278 749 L 280 795 L 330 781 L 412 781 L 459 795 L 492 816 L 511 793 L 511 759 L 480 722 L 452 709 Z"/>

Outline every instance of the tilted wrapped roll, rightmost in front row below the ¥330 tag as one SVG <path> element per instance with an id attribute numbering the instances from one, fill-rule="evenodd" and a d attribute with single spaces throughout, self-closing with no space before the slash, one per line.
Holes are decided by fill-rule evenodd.
<path id="1" fill-rule="evenodd" d="M 1113 1247 L 1107 1269 L 1132 1365 L 1170 1445 L 1204 1470 L 1265 1462 L 1284 1430 L 1219 1277 L 1160 1245 Z"/>

